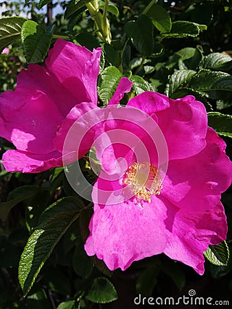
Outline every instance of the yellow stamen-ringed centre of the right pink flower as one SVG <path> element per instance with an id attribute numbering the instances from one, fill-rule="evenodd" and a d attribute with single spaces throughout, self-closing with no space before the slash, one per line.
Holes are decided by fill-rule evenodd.
<path id="1" fill-rule="evenodd" d="M 159 195 L 163 188 L 160 170 L 156 168 L 156 165 L 148 162 L 130 165 L 124 183 L 130 186 L 137 198 L 149 203 L 151 202 L 151 196 L 153 194 Z"/>

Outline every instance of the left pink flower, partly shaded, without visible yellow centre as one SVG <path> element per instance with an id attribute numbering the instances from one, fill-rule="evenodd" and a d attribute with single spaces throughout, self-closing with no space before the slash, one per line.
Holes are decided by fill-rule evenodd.
<path id="1" fill-rule="evenodd" d="M 73 106 L 97 104 L 100 55 L 100 48 L 90 52 L 59 39 L 44 67 L 29 65 L 15 91 L 1 94 L 0 135 L 16 147 L 3 155 L 6 170 L 41 172 L 62 165 L 54 138 Z"/>

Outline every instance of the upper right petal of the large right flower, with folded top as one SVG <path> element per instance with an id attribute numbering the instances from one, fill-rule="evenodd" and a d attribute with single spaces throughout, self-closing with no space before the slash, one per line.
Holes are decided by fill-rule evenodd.
<path id="1" fill-rule="evenodd" d="M 205 148 L 207 113 L 205 106 L 192 95 L 170 100 L 165 95 L 144 92 L 128 102 L 158 119 L 167 142 L 170 160 L 196 155 Z M 127 105 L 127 106 L 128 106 Z"/>

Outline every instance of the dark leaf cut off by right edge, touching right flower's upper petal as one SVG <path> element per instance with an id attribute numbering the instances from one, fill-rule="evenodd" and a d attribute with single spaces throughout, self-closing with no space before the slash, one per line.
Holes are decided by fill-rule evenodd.
<path id="1" fill-rule="evenodd" d="M 232 137 L 232 116 L 222 113 L 210 112 L 208 115 L 208 125 L 214 128 L 219 135 Z"/>

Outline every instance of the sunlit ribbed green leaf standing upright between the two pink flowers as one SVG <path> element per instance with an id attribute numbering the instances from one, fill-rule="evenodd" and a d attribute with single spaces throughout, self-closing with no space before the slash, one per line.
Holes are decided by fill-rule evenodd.
<path id="1" fill-rule="evenodd" d="M 101 84 L 98 87 L 98 95 L 105 105 L 113 97 L 121 77 L 122 74 L 117 67 L 106 67 L 100 74 Z"/>

